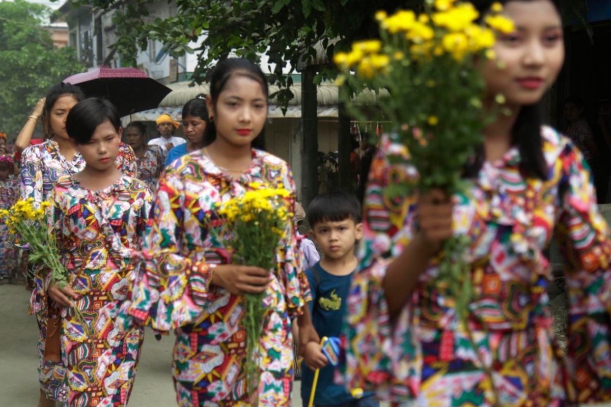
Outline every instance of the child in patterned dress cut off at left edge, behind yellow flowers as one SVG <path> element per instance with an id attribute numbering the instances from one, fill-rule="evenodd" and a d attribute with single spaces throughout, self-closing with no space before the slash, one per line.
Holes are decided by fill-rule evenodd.
<path id="1" fill-rule="evenodd" d="M 19 198 L 19 180 L 13 175 L 13 159 L 0 156 L 0 209 L 9 209 Z M 0 222 L 0 284 L 15 283 L 17 250 L 9 228 Z"/>

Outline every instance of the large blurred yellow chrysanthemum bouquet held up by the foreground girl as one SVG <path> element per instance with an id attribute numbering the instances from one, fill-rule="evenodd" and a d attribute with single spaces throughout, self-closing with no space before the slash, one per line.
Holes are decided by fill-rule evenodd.
<path id="1" fill-rule="evenodd" d="M 452 196 L 466 189 L 464 169 L 498 110 L 483 107 L 485 83 L 478 65 L 496 58 L 495 31 L 514 27 L 500 15 L 498 3 L 481 23 L 470 2 L 427 0 L 426 7 L 420 15 L 412 10 L 376 13 L 381 39 L 354 43 L 350 52 L 335 55 L 335 63 L 343 71 L 339 81 L 353 90 L 380 90 L 378 104 L 392 122 L 393 141 L 406 146 L 409 163 L 418 170 L 417 190 L 439 188 Z M 342 96 L 351 114 L 364 117 L 346 87 Z M 389 185 L 385 193 L 397 198 L 410 188 Z M 464 236 L 448 239 L 439 265 L 438 282 L 450 290 L 463 322 L 472 298 L 469 268 L 462 260 L 468 245 Z"/>

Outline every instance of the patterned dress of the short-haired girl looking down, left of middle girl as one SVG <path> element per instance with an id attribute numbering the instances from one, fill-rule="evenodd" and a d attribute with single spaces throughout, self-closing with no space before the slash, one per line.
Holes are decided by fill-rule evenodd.
<path id="1" fill-rule="evenodd" d="M 99 191 L 65 176 L 57 182 L 52 200 L 49 228 L 55 231 L 62 264 L 68 268 L 68 284 L 79 294 L 75 308 L 87 325 L 74 309 L 62 308 L 65 369 L 55 369 L 54 374 L 65 375 L 57 382 L 67 387 L 70 406 L 126 406 L 144 330 L 120 330 L 115 317 L 131 298 L 133 259 L 138 258 L 152 195 L 144 182 L 125 174 Z M 49 283 L 46 273 L 38 292 L 42 304 Z"/>

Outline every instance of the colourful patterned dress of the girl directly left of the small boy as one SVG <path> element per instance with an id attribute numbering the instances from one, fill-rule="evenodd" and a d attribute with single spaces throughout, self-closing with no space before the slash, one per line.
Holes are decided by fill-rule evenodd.
<path id="1" fill-rule="evenodd" d="M 230 256 L 216 233 L 214 205 L 254 189 L 253 182 L 295 192 L 284 161 L 253 150 L 251 168 L 233 179 L 201 151 L 183 156 L 159 180 L 136 275 L 130 314 L 156 330 L 175 329 L 174 382 L 178 405 L 247 403 L 243 297 L 211 286 L 216 264 Z M 215 232 L 210 231 L 214 225 Z M 296 239 L 296 224 L 277 248 L 278 267 L 263 299 L 272 312 L 263 322 L 260 406 L 290 405 L 293 382 L 291 318 L 310 299 Z"/>

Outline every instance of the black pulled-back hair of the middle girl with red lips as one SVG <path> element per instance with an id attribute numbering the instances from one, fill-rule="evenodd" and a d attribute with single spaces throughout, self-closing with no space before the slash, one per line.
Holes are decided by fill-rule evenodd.
<path id="1" fill-rule="evenodd" d="M 244 58 L 227 58 L 221 60 L 210 76 L 210 98 L 213 109 L 222 90 L 233 76 L 245 76 L 261 85 L 263 94 L 269 96 L 269 88 L 265 74 L 261 68 L 251 60 Z M 203 146 L 210 145 L 216 139 L 216 126 L 214 121 L 208 120 L 206 131 L 203 134 Z M 252 146 L 257 149 L 265 149 L 265 127 L 257 137 L 252 140 Z"/>

